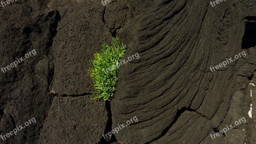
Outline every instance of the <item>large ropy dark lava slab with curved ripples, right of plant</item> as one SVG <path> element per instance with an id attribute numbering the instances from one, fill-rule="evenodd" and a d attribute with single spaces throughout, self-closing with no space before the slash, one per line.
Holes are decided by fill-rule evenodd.
<path id="1" fill-rule="evenodd" d="M 255 7 L 255 2 L 250 4 Z M 214 143 L 210 134 L 220 131 L 223 125 L 234 124 L 242 117 L 252 123 L 244 108 L 246 92 L 238 93 L 236 101 L 232 98 L 236 97 L 240 66 L 247 67 L 251 75 L 255 64 L 246 66 L 244 58 L 240 58 L 213 73 L 209 70 L 243 49 L 245 24 L 229 5 L 220 3 L 212 8 L 206 1 L 165 1 L 135 17 L 117 34 L 127 47 L 133 48 L 126 52 L 127 57 L 140 54 L 140 59 L 120 68 L 111 104 L 112 128 L 133 116 L 139 122 L 116 134 L 117 140 Z M 248 85 L 249 80 L 242 82 Z M 239 110 L 231 107 L 231 102 L 240 103 Z M 255 142 L 249 132 L 241 134 L 241 143 L 246 141 L 245 135 L 249 143 Z M 234 141 L 231 139 L 222 135 L 215 140 Z"/>

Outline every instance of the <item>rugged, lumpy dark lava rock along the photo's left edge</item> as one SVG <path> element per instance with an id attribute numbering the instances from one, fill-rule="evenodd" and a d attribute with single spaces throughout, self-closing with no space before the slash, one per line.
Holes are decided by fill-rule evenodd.
<path id="1" fill-rule="evenodd" d="M 1 67 L 10 65 L 31 50 L 36 51 L 28 59 L 6 72 L 0 72 L 1 135 L 31 118 L 36 119 L 1 143 L 33 143 L 38 141 L 45 115 L 50 108 L 52 95 L 49 82 L 52 73 L 52 57 L 49 46 L 59 20 L 58 11 L 38 13 L 28 3 L 7 6 L 1 15 Z"/>

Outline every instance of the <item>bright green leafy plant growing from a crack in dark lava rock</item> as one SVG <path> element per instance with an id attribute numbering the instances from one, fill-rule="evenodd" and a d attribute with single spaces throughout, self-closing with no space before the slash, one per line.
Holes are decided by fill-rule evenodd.
<path id="1" fill-rule="evenodd" d="M 126 51 L 125 45 L 120 43 L 119 38 L 113 37 L 113 45 L 102 44 L 101 54 L 94 53 L 94 60 L 90 60 L 89 74 L 93 78 L 91 84 L 98 90 L 94 92 L 93 99 L 109 100 L 115 92 L 115 85 L 117 81 L 117 73 L 119 71 L 117 63 L 124 57 Z M 112 68 L 111 68 L 112 67 Z M 105 69 L 111 68 L 112 70 L 106 71 Z"/>

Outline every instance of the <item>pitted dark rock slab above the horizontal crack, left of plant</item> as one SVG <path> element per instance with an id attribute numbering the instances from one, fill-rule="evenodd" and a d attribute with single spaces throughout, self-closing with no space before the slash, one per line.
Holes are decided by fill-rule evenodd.
<path id="1" fill-rule="evenodd" d="M 88 76 L 89 60 L 93 59 L 92 53 L 100 52 L 99 45 L 111 37 L 102 22 L 104 7 L 95 7 L 92 3 L 69 7 L 53 39 L 52 88 L 59 95 L 93 93 L 92 80 Z"/>

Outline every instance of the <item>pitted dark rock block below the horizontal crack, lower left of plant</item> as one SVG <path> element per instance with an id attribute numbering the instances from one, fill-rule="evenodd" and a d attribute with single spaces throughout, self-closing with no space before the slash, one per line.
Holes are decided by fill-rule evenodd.
<path id="1" fill-rule="evenodd" d="M 39 143 L 99 143 L 108 114 L 104 103 L 90 97 L 54 97 Z"/>

